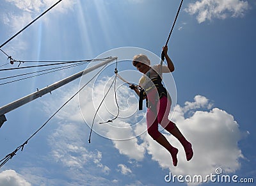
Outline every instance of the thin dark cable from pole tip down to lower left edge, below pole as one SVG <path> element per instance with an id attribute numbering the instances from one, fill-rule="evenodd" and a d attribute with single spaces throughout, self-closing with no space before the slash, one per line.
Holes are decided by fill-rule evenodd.
<path id="1" fill-rule="evenodd" d="M 84 84 L 84 86 L 79 89 L 71 98 L 69 98 L 67 100 L 67 102 L 65 102 L 65 104 L 63 104 L 60 109 L 58 109 L 54 114 L 52 114 L 52 116 L 44 123 L 44 125 L 42 125 L 42 127 L 38 128 L 38 130 L 36 130 L 36 132 L 34 134 L 32 134 L 23 144 L 21 144 L 20 146 L 18 146 L 12 153 L 6 155 L 6 157 L 4 157 L 3 159 L 0 160 L 1 164 L 0 167 L 2 167 L 4 164 L 6 164 L 6 162 L 8 162 L 8 160 L 12 159 L 13 156 L 16 155 L 17 151 L 20 150 L 23 151 L 23 148 L 25 146 L 25 144 L 28 144 L 28 141 L 34 137 L 43 127 L 45 127 L 45 125 L 47 125 L 47 123 L 51 120 L 51 118 L 53 118 L 53 116 L 55 116 L 65 105 L 67 105 L 68 102 L 70 102 L 70 100 L 72 100 L 72 98 L 76 97 L 76 95 L 86 86 L 88 85 L 105 67 L 107 66 L 107 64 L 105 66 L 102 67 L 102 69 L 97 72 L 97 74 L 95 74 L 92 79 L 90 79 L 90 81 L 88 81 L 86 84 Z"/>

